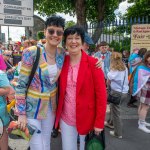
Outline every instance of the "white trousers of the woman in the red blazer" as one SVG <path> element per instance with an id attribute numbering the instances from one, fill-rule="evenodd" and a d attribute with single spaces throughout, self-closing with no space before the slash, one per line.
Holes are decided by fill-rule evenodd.
<path id="1" fill-rule="evenodd" d="M 63 150 L 77 150 L 78 131 L 76 126 L 67 125 L 62 119 L 60 121 L 62 148 Z M 84 150 L 85 135 L 80 136 L 80 150 Z"/>

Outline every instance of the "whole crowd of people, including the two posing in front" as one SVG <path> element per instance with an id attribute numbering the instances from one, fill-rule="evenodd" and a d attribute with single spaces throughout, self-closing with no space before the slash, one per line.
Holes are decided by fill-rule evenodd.
<path id="1" fill-rule="evenodd" d="M 43 42 L 17 41 L 7 49 L 0 43 L 0 118 L 4 124 L 1 150 L 8 149 L 6 128 L 10 118 L 6 106 L 14 98 L 20 130 L 24 131 L 27 124 L 40 130 L 29 141 L 31 150 L 50 150 L 51 133 L 58 128 L 63 150 L 77 150 L 77 139 L 80 150 L 84 150 L 85 136 L 90 131 L 99 135 L 104 126 L 112 129 L 111 136 L 123 138 L 122 102 L 135 109 L 135 103 L 140 101 L 138 128 L 150 133 L 150 123 L 146 122 L 150 106 L 150 51 L 134 48 L 131 54 L 127 50 L 115 52 L 102 41 L 89 54 L 94 43 L 83 28 L 64 27 L 65 20 L 53 15 L 45 22 Z M 59 47 L 62 40 L 64 45 Z M 8 98 L 12 88 L 14 97 Z M 109 104 L 107 92 L 120 94 L 120 104 Z"/>

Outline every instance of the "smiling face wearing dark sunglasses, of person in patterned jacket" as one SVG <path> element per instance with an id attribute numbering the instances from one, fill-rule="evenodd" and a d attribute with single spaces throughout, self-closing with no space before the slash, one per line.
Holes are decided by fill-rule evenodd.
<path id="1" fill-rule="evenodd" d="M 56 26 L 48 26 L 44 31 L 44 35 L 49 45 L 57 46 L 62 40 L 63 28 Z"/>

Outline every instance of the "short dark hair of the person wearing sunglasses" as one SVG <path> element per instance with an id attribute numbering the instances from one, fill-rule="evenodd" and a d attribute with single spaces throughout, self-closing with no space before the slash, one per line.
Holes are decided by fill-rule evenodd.
<path id="1" fill-rule="evenodd" d="M 65 19 L 61 16 L 52 15 L 48 17 L 45 21 L 45 29 L 48 26 L 56 26 L 56 27 L 62 27 L 64 29 L 65 27 Z"/>

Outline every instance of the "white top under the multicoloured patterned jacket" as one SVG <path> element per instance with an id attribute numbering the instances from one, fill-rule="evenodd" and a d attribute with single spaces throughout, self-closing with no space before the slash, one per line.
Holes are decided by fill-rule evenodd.
<path id="1" fill-rule="evenodd" d="M 57 65 L 48 65 L 50 83 L 53 84 L 53 79 L 57 74 Z"/>

